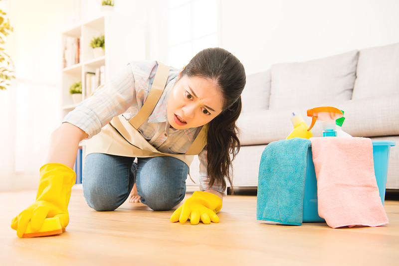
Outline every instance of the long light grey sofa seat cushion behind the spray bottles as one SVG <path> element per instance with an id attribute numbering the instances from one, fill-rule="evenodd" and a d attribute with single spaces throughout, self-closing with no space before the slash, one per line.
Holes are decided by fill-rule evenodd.
<path id="1" fill-rule="evenodd" d="M 332 106 L 345 111 L 342 130 L 352 136 L 385 136 L 399 134 L 399 95 L 387 98 L 348 100 L 333 103 Z M 384 107 L 384 108 L 381 108 Z M 241 114 L 237 120 L 241 145 L 267 144 L 284 139 L 294 129 L 291 112 L 300 114 L 310 126 L 311 118 L 306 116 L 307 108 L 294 110 L 263 110 Z M 312 128 L 313 136 L 322 136 L 322 123 L 317 121 Z"/>

